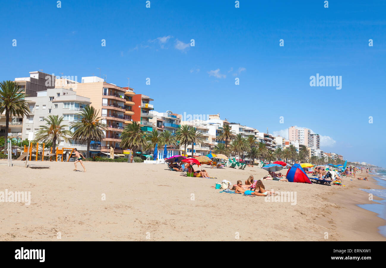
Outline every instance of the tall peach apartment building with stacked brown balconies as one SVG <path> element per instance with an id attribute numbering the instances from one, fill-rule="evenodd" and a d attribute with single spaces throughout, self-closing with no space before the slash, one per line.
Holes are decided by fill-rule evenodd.
<path id="1" fill-rule="evenodd" d="M 73 88 L 79 96 L 90 98 L 90 106 L 97 110 L 98 116 L 107 125 L 106 138 L 101 141 L 100 152 L 108 154 L 110 147 L 113 147 L 117 155 L 129 154 L 130 151 L 120 147 L 120 142 L 124 127 L 132 122 L 134 116 L 134 89 L 106 83 L 97 76 L 82 77 L 81 81 L 65 87 Z"/>

